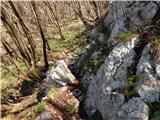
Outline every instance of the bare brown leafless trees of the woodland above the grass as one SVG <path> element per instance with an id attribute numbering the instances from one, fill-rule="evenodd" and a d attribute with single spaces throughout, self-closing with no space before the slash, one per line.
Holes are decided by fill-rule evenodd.
<path id="1" fill-rule="evenodd" d="M 83 32 L 89 31 L 106 14 L 109 3 L 6 1 L 1 4 L 1 67 L 17 76 L 8 67 L 14 64 L 16 71 L 26 77 L 18 61 L 26 66 L 27 71 L 34 71 L 37 68 L 36 63 L 43 56 L 45 68 L 48 68 L 47 52 L 51 49 L 48 43 L 49 33 L 57 34 L 65 40 L 66 31 L 63 28 L 71 22 L 80 22 Z M 41 44 L 38 48 L 43 51 L 41 54 L 37 52 L 37 44 Z"/>

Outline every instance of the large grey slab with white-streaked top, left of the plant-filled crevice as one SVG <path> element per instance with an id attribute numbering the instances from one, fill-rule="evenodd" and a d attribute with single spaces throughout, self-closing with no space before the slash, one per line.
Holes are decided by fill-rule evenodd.
<path id="1" fill-rule="evenodd" d="M 85 105 L 89 112 L 98 109 L 106 120 L 118 115 L 124 95 L 113 90 L 127 86 L 126 69 L 133 62 L 133 48 L 138 41 L 139 38 L 134 37 L 131 41 L 119 43 L 106 58 L 88 88 Z"/>

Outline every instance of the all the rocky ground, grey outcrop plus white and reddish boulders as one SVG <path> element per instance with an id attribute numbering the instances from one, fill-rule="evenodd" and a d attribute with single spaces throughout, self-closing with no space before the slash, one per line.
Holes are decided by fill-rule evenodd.
<path id="1" fill-rule="evenodd" d="M 159 120 L 159 26 L 160 2 L 112 2 L 79 59 L 47 72 L 35 119 Z"/>

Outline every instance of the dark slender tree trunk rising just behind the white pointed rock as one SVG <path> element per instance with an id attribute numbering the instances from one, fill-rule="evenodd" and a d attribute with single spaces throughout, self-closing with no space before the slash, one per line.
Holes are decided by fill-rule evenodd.
<path id="1" fill-rule="evenodd" d="M 44 63 L 45 63 L 45 68 L 48 69 L 48 57 L 47 57 L 47 50 L 46 50 L 46 39 L 45 39 L 45 35 L 44 35 L 44 32 L 43 32 L 43 28 L 42 28 L 42 21 L 41 21 L 41 18 L 40 18 L 40 12 L 39 12 L 39 8 L 38 6 L 36 6 L 35 2 L 32 1 L 31 2 L 31 5 L 33 7 L 33 10 L 34 10 L 34 13 L 35 13 L 35 16 L 36 16 L 36 19 L 37 19 L 37 25 L 38 25 L 38 28 L 39 28 L 39 31 L 40 31 L 40 35 L 41 35 L 41 38 L 42 38 L 42 42 L 43 42 L 43 57 L 44 57 Z"/>

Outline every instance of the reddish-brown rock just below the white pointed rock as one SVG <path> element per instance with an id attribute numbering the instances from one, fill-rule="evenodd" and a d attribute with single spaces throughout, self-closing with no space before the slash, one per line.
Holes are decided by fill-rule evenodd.
<path id="1" fill-rule="evenodd" d="M 79 120 L 77 114 L 79 101 L 73 95 L 68 86 L 57 89 L 55 93 L 50 94 L 47 100 L 45 111 L 42 111 L 35 120 Z M 72 118 L 72 119 L 71 119 Z"/>

